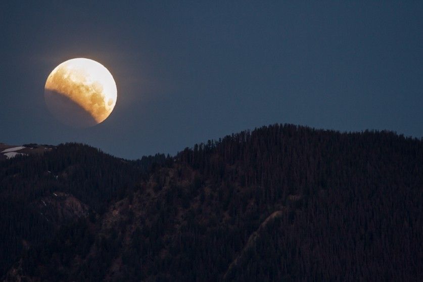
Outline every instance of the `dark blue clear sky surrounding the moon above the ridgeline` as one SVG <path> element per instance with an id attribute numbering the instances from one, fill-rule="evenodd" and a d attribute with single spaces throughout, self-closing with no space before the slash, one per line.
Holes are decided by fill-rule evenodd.
<path id="1" fill-rule="evenodd" d="M 0 142 L 174 154 L 271 123 L 423 136 L 423 2 L 0 4 Z M 86 129 L 44 103 L 49 73 L 96 60 L 115 110 Z"/>

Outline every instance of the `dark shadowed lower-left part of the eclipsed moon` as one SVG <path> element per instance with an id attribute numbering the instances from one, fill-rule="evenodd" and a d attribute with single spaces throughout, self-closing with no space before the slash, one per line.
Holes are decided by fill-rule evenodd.
<path id="1" fill-rule="evenodd" d="M 45 89 L 44 99 L 50 112 L 66 125 L 81 128 L 98 124 L 90 113 L 60 92 Z"/>

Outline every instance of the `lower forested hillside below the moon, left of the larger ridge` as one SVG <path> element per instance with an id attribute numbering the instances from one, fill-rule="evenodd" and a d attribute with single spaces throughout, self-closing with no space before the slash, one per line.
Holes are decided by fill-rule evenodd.
<path id="1" fill-rule="evenodd" d="M 82 144 L 0 162 L 0 273 L 64 224 L 103 214 L 119 191 L 164 155 L 125 161 Z M 82 212 L 83 211 L 83 212 Z"/>

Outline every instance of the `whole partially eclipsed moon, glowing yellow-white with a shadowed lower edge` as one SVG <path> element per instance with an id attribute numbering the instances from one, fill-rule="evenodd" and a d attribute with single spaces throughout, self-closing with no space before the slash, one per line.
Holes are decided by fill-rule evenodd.
<path id="1" fill-rule="evenodd" d="M 72 127 L 90 127 L 112 113 L 117 99 L 115 80 L 102 64 L 75 58 L 58 65 L 44 86 L 50 112 Z"/>

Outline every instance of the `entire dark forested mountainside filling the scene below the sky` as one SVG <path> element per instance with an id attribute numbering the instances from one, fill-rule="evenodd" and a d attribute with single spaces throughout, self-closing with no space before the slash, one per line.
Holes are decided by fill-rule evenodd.
<path id="1" fill-rule="evenodd" d="M 50 172 L 49 172 L 50 171 Z M 418 281 L 423 142 L 273 125 L 125 161 L 0 163 L 5 280 Z"/>

